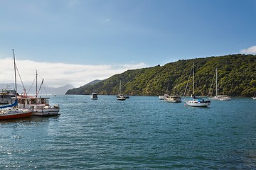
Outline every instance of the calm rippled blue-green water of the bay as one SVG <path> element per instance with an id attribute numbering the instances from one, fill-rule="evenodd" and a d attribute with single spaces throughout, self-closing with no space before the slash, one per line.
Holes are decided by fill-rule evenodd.
<path id="1" fill-rule="evenodd" d="M 58 117 L 0 122 L 0 169 L 256 169 L 256 101 L 55 96 Z"/>

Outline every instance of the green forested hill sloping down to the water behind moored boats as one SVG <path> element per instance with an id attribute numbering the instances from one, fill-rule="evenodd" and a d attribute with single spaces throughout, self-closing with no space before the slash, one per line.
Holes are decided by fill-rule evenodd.
<path id="1" fill-rule="evenodd" d="M 191 69 L 195 64 L 195 94 L 208 96 L 210 87 L 215 94 L 215 69 L 218 68 L 219 94 L 230 96 L 253 96 L 256 91 L 256 55 L 226 55 L 192 60 L 178 60 L 164 66 L 127 70 L 90 86 L 71 89 L 66 94 L 116 95 L 119 82 L 122 94 L 158 96 L 169 94 L 192 94 Z M 188 81 L 189 78 L 189 81 Z"/>

